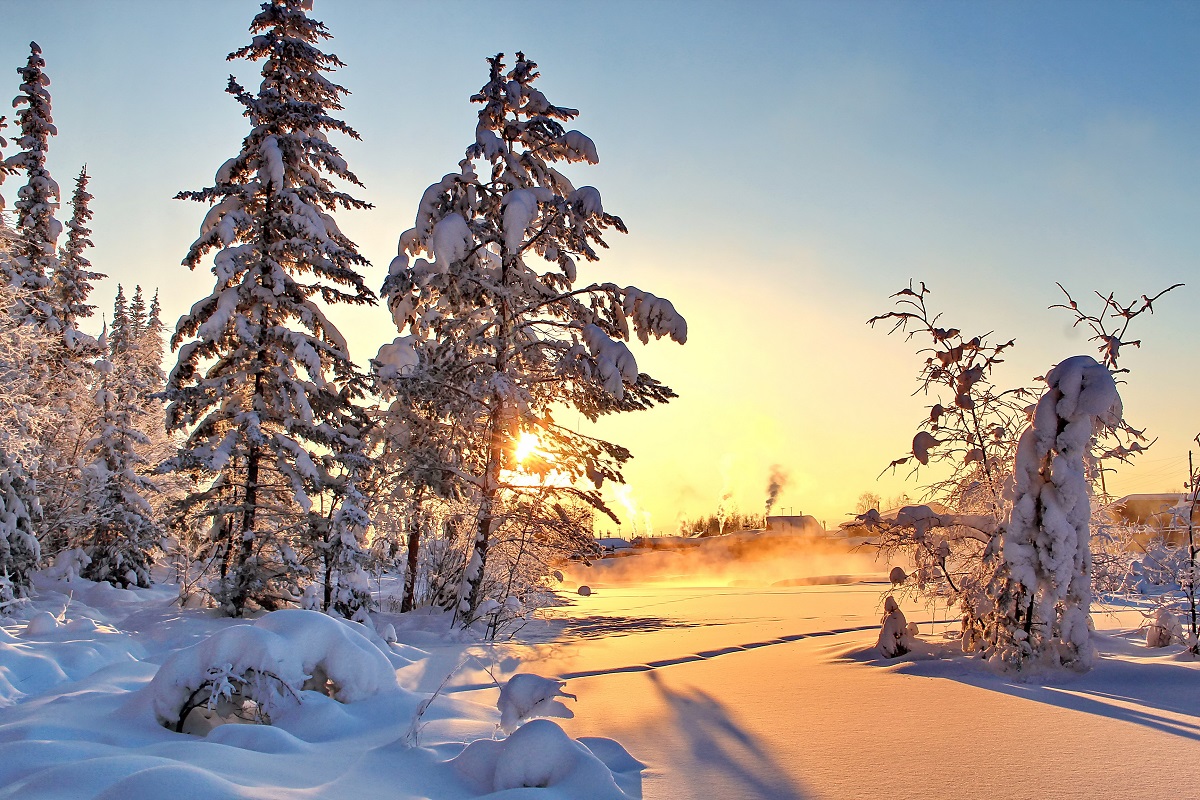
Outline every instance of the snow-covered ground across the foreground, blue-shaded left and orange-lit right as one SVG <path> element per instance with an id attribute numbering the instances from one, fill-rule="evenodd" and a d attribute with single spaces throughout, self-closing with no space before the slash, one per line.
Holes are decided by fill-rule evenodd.
<path id="1" fill-rule="evenodd" d="M 35 607 L 2 620 L 0 798 L 469 798 L 547 782 L 497 796 L 1150 798 L 1184 786 L 1170 776 L 1192 769 L 1200 741 L 1196 664 L 1146 649 L 1136 609 L 1096 613 L 1091 673 L 1016 682 L 955 657 L 944 609 L 932 624 L 912 602 L 919 646 L 881 660 L 886 565 L 835 545 L 794 558 L 730 547 L 576 567 L 569 604 L 496 645 L 448 640 L 436 616 L 380 618 L 395 644 L 347 625 L 355 646 L 386 654 L 398 686 L 348 703 L 300 692 L 272 726 L 206 738 L 160 724 L 150 681 L 245 621 L 180 610 L 169 585 L 42 581 Z M 564 679 L 574 718 L 551 700 L 534 715 L 557 718 L 505 739 L 499 686 L 518 673 Z M 506 722 L 540 686 L 514 684 Z"/>

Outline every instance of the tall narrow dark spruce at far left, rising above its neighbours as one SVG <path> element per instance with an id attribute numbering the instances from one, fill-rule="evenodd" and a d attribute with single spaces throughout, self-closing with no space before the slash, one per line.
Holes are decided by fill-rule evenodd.
<path id="1" fill-rule="evenodd" d="M 12 101 L 17 109 L 17 126 L 20 136 L 16 144 L 20 152 L 10 156 L 5 166 L 25 173 L 25 185 L 20 187 L 13 210 L 17 212 L 17 245 L 14 258 L 7 267 L 8 282 L 23 291 L 17 301 L 22 303 L 18 314 L 31 323 L 46 325 L 53 331 L 61 330 L 54 305 L 49 297 L 50 275 L 56 266 L 55 247 L 62 223 L 54 217 L 61 192 L 58 182 L 46 168 L 46 154 L 52 136 L 58 136 L 50 115 L 50 79 L 43 72 L 46 60 L 37 42 L 29 43 L 29 60 L 17 70 L 20 74 L 20 94 Z"/>

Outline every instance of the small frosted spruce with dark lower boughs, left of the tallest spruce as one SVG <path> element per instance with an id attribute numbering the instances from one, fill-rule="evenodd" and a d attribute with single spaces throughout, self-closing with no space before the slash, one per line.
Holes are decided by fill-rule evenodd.
<path id="1" fill-rule="evenodd" d="M 88 527 L 78 542 L 89 559 L 82 575 L 116 587 L 149 587 L 162 530 L 149 501 L 158 487 L 140 469 L 145 459 L 138 447 L 148 438 L 134 422 L 148 387 L 137 372 L 115 371 L 110 361 L 98 361 L 96 369 L 101 415 L 100 431 L 88 443 L 86 476 L 94 488 Z"/>

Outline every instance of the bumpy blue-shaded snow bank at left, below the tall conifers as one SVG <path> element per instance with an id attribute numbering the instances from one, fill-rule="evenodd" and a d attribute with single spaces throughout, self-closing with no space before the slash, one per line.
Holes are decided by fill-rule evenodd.
<path id="1" fill-rule="evenodd" d="M 0 798 L 637 796 L 640 764 L 619 745 L 533 718 L 569 715 L 559 681 L 522 675 L 502 704 L 512 734 L 494 740 L 494 696 L 426 704 L 397 682 L 436 663 L 419 648 L 314 612 L 228 620 L 173 600 L 174 587 L 40 581 L 34 607 L 4 620 Z M 191 729 L 206 735 L 174 732 L 197 687 L 246 669 L 280 679 L 271 724 L 232 716 L 232 681 L 209 714 L 230 723 L 196 722 L 202 708 Z"/>

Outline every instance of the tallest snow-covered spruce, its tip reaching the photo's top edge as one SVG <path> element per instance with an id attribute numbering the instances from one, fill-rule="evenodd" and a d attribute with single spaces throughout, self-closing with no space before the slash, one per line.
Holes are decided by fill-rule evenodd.
<path id="1" fill-rule="evenodd" d="M 313 503 L 361 449 L 364 386 L 316 297 L 374 301 L 367 260 L 331 216 L 370 206 L 331 182 L 359 185 L 326 133 L 358 134 L 331 116 L 346 89 L 324 73 L 342 62 L 317 47 L 330 35 L 308 5 L 262 6 L 253 41 L 229 55 L 263 61 L 257 95 L 228 86 L 251 132 L 214 186 L 179 196 L 214 204 L 184 264 L 215 251 L 216 284 L 172 337 L 167 426 L 187 437 L 167 468 L 198 481 L 175 524 L 209 531 L 212 593 L 233 615 L 299 600 Z"/>

